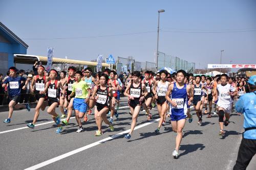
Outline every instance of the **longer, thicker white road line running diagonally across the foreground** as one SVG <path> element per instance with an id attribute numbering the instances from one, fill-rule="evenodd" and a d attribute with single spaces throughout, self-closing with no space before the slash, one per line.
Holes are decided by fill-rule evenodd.
<path id="1" fill-rule="evenodd" d="M 150 124 L 153 124 L 153 123 L 155 123 L 155 122 L 158 122 L 159 120 L 160 120 L 160 118 L 154 119 L 154 120 L 152 120 L 151 122 L 148 122 L 148 123 L 145 123 L 145 124 L 142 124 L 142 125 L 139 125 L 139 126 L 135 127 L 134 130 L 139 129 L 139 128 L 142 128 L 142 127 L 147 126 L 147 125 L 150 125 Z M 118 133 L 118 134 L 116 134 L 116 135 L 113 135 L 113 136 L 107 137 L 107 138 L 105 138 L 105 139 L 96 141 L 96 142 L 94 142 L 94 143 L 88 144 L 88 145 L 86 145 L 86 146 L 84 146 L 84 147 L 81 147 L 81 148 L 78 148 L 78 149 L 76 149 L 76 150 L 70 151 L 70 152 L 68 152 L 68 153 L 66 153 L 66 154 L 59 155 L 59 156 L 57 156 L 57 157 L 55 157 L 55 158 L 49 159 L 49 160 L 47 160 L 47 161 L 41 162 L 41 163 L 36 164 L 36 165 L 34 165 L 34 166 L 31 166 L 31 167 L 28 167 L 28 168 L 26 168 L 25 170 L 38 169 L 38 168 L 44 167 L 44 166 L 49 165 L 49 164 L 51 164 L 51 163 L 53 163 L 53 162 L 59 161 L 59 160 L 61 160 L 61 159 L 63 159 L 63 158 L 69 157 L 69 156 L 71 156 L 71 155 L 77 154 L 77 153 L 82 152 L 82 151 L 84 151 L 84 150 L 87 150 L 87 149 L 89 149 L 89 148 L 95 147 L 96 145 L 98 145 L 98 144 L 100 144 L 100 143 L 104 143 L 104 142 L 106 142 L 106 141 L 109 141 L 109 140 L 112 140 L 112 139 L 114 139 L 114 138 L 117 138 L 118 136 L 121 136 L 121 135 L 123 135 L 123 134 L 125 134 L 125 133 L 129 133 L 130 130 L 131 130 L 131 129 L 126 130 L 126 131 L 123 131 L 123 132 L 120 132 L 120 133 Z"/>

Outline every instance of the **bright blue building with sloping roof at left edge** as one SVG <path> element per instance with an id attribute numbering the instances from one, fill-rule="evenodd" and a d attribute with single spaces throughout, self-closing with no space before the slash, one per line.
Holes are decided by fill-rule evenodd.
<path id="1" fill-rule="evenodd" d="M 28 45 L 0 22 L 0 73 L 14 66 L 13 54 L 27 54 Z"/>

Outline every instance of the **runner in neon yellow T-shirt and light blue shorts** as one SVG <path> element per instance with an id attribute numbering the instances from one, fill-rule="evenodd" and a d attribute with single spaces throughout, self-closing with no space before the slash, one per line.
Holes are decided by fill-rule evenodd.
<path id="1" fill-rule="evenodd" d="M 87 103 L 91 94 L 91 88 L 85 81 L 82 81 L 81 78 L 82 72 L 76 71 L 76 82 L 73 83 L 72 93 L 68 96 L 68 98 L 70 99 L 73 95 L 75 95 L 75 98 L 73 99 L 73 106 L 76 113 L 76 122 L 79 126 L 76 131 L 77 133 L 80 133 L 84 130 L 80 118 L 83 118 L 84 114 L 86 114 L 88 107 Z"/>

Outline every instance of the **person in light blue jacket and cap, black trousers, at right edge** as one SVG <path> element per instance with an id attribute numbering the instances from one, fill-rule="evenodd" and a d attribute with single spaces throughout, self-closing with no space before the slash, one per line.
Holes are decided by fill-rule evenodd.
<path id="1" fill-rule="evenodd" d="M 249 93 L 241 96 L 236 110 L 244 114 L 244 133 L 239 147 L 238 158 L 233 169 L 246 169 L 256 153 L 256 75 L 248 81 Z"/>

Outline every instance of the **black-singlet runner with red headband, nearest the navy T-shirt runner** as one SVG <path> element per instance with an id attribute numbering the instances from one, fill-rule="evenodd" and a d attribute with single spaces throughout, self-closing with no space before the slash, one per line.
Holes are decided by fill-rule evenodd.
<path id="1" fill-rule="evenodd" d="M 31 129 L 35 128 L 35 123 L 38 119 L 40 109 L 44 111 L 46 109 L 46 106 L 48 106 L 47 96 L 45 94 L 41 94 L 40 91 L 45 90 L 45 84 L 49 80 L 49 77 L 45 76 L 45 67 L 42 65 L 39 65 L 37 67 L 37 72 L 38 72 L 38 75 L 33 77 L 30 85 L 30 89 L 32 92 L 35 93 L 35 99 L 37 100 L 33 123 L 30 123 L 27 125 L 27 127 Z"/>

